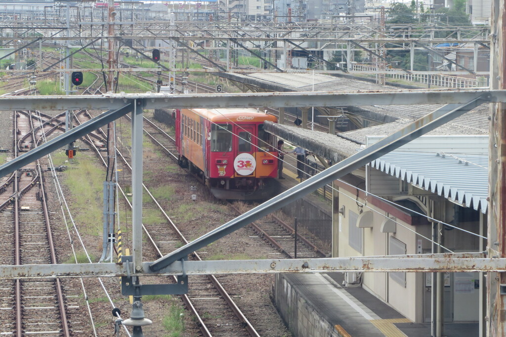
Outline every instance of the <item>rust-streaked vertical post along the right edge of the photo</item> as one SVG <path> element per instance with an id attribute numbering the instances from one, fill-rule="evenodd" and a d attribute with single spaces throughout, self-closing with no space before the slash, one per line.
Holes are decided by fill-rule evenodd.
<path id="1" fill-rule="evenodd" d="M 504 20 L 506 4 L 492 3 L 490 46 L 490 89 L 506 89 L 506 38 Z M 506 104 L 490 105 L 491 123 L 489 140 L 489 198 L 487 250 L 491 258 L 506 257 Z M 499 337 L 506 334 L 506 273 L 487 275 L 486 334 Z M 481 331 L 480 331 L 481 332 Z"/>

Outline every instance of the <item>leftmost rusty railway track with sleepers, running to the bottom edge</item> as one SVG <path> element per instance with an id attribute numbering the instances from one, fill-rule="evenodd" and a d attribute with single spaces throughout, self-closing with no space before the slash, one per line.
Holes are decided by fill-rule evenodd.
<path id="1" fill-rule="evenodd" d="M 14 128 L 17 130 L 13 151 L 16 157 L 37 143 L 30 112 L 15 112 Z M 7 235 L 8 242 L 13 242 L 13 249 L 9 251 L 14 256 L 7 261 L 15 265 L 57 263 L 40 162 L 16 171 L 5 186 L 4 194 L 11 197 L 2 204 L 1 218 L 5 224 L 10 224 L 6 228 L 13 228 L 7 230 Z M 6 198 L 2 196 L 3 199 Z M 70 289 L 64 292 L 59 279 L 3 280 L 2 288 L 6 296 L 2 301 L 4 310 L 0 311 L 3 323 L 0 333 L 69 336 L 72 331 L 81 331 L 82 327 L 73 326 L 67 318 L 68 297 L 78 294 L 69 294 Z M 11 300 L 6 301 L 9 298 Z"/>

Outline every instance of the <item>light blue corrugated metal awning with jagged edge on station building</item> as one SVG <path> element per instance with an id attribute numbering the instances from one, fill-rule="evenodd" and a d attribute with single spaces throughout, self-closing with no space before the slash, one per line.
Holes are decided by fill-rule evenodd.
<path id="1" fill-rule="evenodd" d="M 463 206 L 487 212 L 488 156 L 392 151 L 371 166 Z"/>

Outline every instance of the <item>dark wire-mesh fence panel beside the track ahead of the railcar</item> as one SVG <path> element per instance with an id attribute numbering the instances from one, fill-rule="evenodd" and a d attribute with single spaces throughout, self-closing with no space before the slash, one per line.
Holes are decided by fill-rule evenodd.
<path id="1" fill-rule="evenodd" d="M 331 218 L 295 218 L 294 258 L 329 257 L 332 252 Z M 309 242 L 310 245 L 302 244 Z"/>

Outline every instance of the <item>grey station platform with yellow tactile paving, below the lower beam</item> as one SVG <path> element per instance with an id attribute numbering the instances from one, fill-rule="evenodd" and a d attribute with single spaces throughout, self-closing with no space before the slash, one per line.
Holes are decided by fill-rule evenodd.
<path id="1" fill-rule="evenodd" d="M 343 287 L 343 280 L 343 273 L 276 276 L 276 306 L 295 336 L 431 335 L 430 323 L 413 323 L 362 287 Z M 288 301 L 280 303 L 283 299 Z M 478 336 L 478 331 L 478 323 L 444 325 L 447 337 Z"/>

